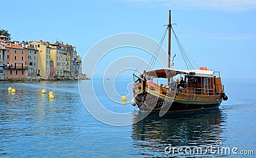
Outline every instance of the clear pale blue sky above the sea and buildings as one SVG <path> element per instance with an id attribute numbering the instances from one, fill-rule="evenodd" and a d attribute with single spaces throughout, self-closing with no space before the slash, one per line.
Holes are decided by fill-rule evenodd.
<path id="1" fill-rule="evenodd" d="M 173 28 L 195 68 L 209 67 L 225 78 L 256 79 L 256 1 L 1 0 L 1 6 L 0 28 L 7 29 L 12 40 L 59 40 L 76 45 L 81 56 L 103 38 L 118 33 L 140 33 L 159 41 L 171 9 L 172 22 L 177 23 Z M 163 47 L 167 47 L 166 40 Z M 172 48 L 177 54 L 175 68 L 185 69 L 174 38 Z M 116 54 L 118 51 L 113 51 L 106 61 L 115 59 Z M 143 58 L 145 53 L 138 56 Z M 99 72 L 104 67 L 108 63 L 101 63 Z"/>

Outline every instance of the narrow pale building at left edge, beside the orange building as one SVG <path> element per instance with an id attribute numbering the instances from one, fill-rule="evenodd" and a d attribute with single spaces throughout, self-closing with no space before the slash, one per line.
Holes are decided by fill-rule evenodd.
<path id="1" fill-rule="evenodd" d="M 7 70 L 6 70 L 6 51 L 7 49 L 4 49 L 0 45 L 0 81 L 4 81 L 7 79 Z"/>

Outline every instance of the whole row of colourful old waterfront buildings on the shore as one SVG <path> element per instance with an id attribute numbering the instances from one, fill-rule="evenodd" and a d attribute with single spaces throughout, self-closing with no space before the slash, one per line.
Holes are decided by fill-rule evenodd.
<path id="1" fill-rule="evenodd" d="M 0 36 L 0 80 L 41 76 L 44 79 L 78 78 L 82 61 L 76 47 L 63 42 L 11 42 Z M 81 77 L 81 76 L 80 76 Z"/>

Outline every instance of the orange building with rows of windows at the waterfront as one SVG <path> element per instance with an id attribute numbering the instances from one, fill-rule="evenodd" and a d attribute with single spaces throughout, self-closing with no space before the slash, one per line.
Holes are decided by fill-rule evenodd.
<path id="1" fill-rule="evenodd" d="M 27 54 L 25 49 L 20 47 L 18 43 L 3 45 L 6 52 L 6 63 L 7 63 L 7 79 L 24 79 L 28 70 Z"/>

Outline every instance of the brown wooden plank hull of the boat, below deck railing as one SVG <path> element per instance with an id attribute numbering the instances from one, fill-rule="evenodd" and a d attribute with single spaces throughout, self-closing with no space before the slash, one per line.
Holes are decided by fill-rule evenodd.
<path id="1" fill-rule="evenodd" d="M 144 90 L 134 87 L 134 100 L 141 111 L 191 111 L 219 107 L 221 95 L 195 95 L 171 92 L 163 95 L 154 88 Z"/>

